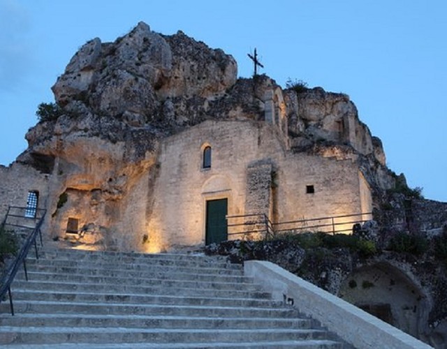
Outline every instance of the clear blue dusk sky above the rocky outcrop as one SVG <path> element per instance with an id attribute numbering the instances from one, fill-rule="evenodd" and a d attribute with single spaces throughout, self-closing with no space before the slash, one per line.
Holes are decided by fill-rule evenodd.
<path id="1" fill-rule="evenodd" d="M 91 38 L 115 40 L 138 22 L 232 54 L 250 77 L 348 94 L 381 138 L 387 165 L 447 202 L 445 0 L 0 0 L 0 164 L 27 148 L 39 103 Z"/>

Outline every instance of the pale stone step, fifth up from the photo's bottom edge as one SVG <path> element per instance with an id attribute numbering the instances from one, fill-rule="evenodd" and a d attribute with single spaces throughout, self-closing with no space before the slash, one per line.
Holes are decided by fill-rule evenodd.
<path id="1" fill-rule="evenodd" d="M 184 295 L 135 294 L 135 293 L 97 293 L 97 292 L 56 292 L 53 290 L 30 291 L 14 290 L 14 300 L 21 301 L 50 301 L 50 302 L 115 302 L 135 304 L 177 304 L 177 305 L 207 305 L 207 306 L 254 306 L 279 307 L 282 302 L 269 299 L 249 298 L 219 298 L 193 297 Z"/>

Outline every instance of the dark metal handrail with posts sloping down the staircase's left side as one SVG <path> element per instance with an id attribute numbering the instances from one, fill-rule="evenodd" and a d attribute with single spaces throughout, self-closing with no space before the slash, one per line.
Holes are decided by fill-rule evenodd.
<path id="1" fill-rule="evenodd" d="M 15 208 L 25 208 L 25 207 L 15 207 Z M 8 212 L 9 212 L 9 208 L 8 208 Z M 3 274 L 1 275 L 0 304 L 3 301 L 3 299 L 5 299 L 6 292 L 8 292 L 11 315 L 14 315 L 13 297 L 11 295 L 11 283 L 13 283 L 15 274 L 17 274 L 17 270 L 19 269 L 19 266 L 21 263 L 23 263 L 25 277 L 28 281 L 27 265 L 26 265 L 25 259 L 27 258 L 29 248 L 31 248 L 31 244 L 34 244 L 34 248 L 36 250 L 36 259 L 38 259 L 36 237 L 37 237 L 37 235 L 39 235 L 39 237 L 41 239 L 41 246 L 43 246 L 41 226 L 43 224 L 43 220 L 45 218 L 46 213 L 47 213 L 47 211 L 44 209 L 41 218 L 39 219 L 38 223 L 36 224 L 36 227 L 33 229 L 31 234 L 28 235 L 24 244 L 22 244 L 22 247 L 20 248 L 19 253 L 17 253 L 17 255 L 15 256 L 15 260 L 13 260 L 13 262 L 9 265 L 9 267 L 6 269 L 6 271 L 3 272 Z M 8 218 L 8 216 L 5 217 L 5 219 L 2 223 L 3 227 L 6 225 L 7 218 Z"/>

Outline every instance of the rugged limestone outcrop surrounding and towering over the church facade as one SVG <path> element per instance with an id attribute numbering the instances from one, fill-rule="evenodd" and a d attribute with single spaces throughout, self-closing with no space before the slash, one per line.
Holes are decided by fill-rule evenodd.
<path id="1" fill-rule="evenodd" d="M 374 217 L 381 227 L 378 242 L 397 230 L 439 236 L 446 229 L 445 205 L 421 200 L 404 177 L 386 167 L 381 141 L 360 121 L 349 96 L 321 87 L 282 89 L 266 75 L 237 79 L 233 57 L 182 31 L 164 36 L 140 22 L 113 43 L 94 38 L 75 53 L 52 91 L 59 114 L 29 130 L 28 149 L 11 168 L 0 167 L 0 175 L 3 183 L 13 183 L 22 168 L 29 178 L 42 174 L 45 230 L 71 246 L 133 251 L 147 244 L 151 238 L 146 221 L 156 208 L 160 144 L 209 119 L 268 121 L 284 136 L 284 148 L 295 154 L 357 163 L 372 193 Z M 269 185 L 274 183 L 268 177 Z M 1 215 L 13 202 L 8 198 L 15 189 L 1 193 L 6 198 L 0 203 Z M 80 233 L 66 237 L 66 221 L 75 216 L 82 217 L 75 229 Z M 289 253 L 281 248 L 291 256 L 286 266 L 302 264 L 302 249 Z M 320 268 L 332 292 L 360 266 L 340 253 L 344 265 Z M 401 269 L 408 266 L 399 263 Z M 413 274 L 420 283 L 432 283 L 426 280 L 432 274 Z M 439 287 L 424 291 L 432 302 L 430 315 L 424 316 L 441 329 L 447 311 L 434 304 L 444 302 L 441 293 L 447 283 L 445 277 L 439 282 Z M 445 343 L 435 332 L 438 342 Z"/>

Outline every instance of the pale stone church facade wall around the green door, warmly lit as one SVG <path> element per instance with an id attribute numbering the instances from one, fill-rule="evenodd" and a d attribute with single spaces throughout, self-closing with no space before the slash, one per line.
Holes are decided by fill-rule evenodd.
<path id="1" fill-rule="evenodd" d="M 211 168 L 202 168 L 205 146 Z M 356 161 L 294 154 L 277 127 L 263 122 L 205 121 L 164 140 L 159 165 L 147 227 L 149 246 L 158 249 L 203 244 L 207 200 L 227 198 L 230 216 L 265 213 L 279 221 L 362 209 Z"/>

